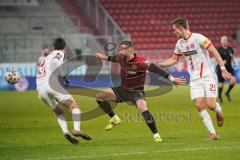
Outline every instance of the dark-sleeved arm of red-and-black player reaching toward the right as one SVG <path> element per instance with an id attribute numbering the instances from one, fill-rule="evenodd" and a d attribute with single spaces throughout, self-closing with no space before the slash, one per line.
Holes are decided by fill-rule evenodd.
<path id="1" fill-rule="evenodd" d="M 158 66 L 156 66 L 153 63 L 149 64 L 148 70 L 150 72 L 154 72 L 159 74 L 160 76 L 169 79 L 170 81 L 172 81 L 174 84 L 176 85 L 184 85 L 187 83 L 187 80 L 184 77 L 173 77 L 172 75 L 170 75 L 169 73 L 167 73 L 166 71 L 162 70 L 161 68 L 159 68 Z"/>

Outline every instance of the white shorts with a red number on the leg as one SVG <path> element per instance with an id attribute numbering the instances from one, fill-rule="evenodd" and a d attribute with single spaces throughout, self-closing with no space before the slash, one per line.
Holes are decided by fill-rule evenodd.
<path id="1" fill-rule="evenodd" d="M 218 86 L 214 78 L 201 78 L 190 82 L 191 99 L 199 97 L 217 98 Z"/>

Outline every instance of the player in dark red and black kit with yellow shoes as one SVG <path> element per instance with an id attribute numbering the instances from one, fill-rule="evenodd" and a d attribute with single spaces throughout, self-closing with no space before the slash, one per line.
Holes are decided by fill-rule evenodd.
<path id="1" fill-rule="evenodd" d="M 162 141 L 156 127 L 155 120 L 147 108 L 144 94 L 144 83 L 147 70 L 155 72 L 160 76 L 171 80 L 175 84 L 186 84 L 183 77 L 174 78 L 164 70 L 149 62 L 146 58 L 136 54 L 133 44 L 130 41 L 122 41 L 119 44 L 119 53 L 114 56 L 105 56 L 100 53 L 96 54 L 99 60 L 117 62 L 121 66 L 121 85 L 118 87 L 107 88 L 96 95 L 100 108 L 110 116 L 110 123 L 106 130 L 112 129 L 115 125 L 120 124 L 120 118 L 114 113 L 109 102 L 126 102 L 130 101 L 140 110 L 146 124 L 153 133 L 155 142 Z"/>

